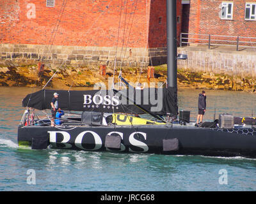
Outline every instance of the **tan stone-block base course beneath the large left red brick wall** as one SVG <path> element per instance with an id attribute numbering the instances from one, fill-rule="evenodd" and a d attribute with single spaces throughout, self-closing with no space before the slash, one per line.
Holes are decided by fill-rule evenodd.
<path id="1" fill-rule="evenodd" d="M 149 52 L 149 53 L 148 53 Z M 147 67 L 152 56 L 155 65 L 166 63 L 166 48 L 72 47 L 56 45 L 0 44 L 1 63 L 35 64 L 42 60 L 51 67 L 74 66 Z"/>

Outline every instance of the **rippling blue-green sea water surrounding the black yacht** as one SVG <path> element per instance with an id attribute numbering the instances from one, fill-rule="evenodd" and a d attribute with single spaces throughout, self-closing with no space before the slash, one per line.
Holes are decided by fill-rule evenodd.
<path id="1" fill-rule="evenodd" d="M 17 145 L 22 98 L 35 88 L 0 87 L 0 191 L 255 191 L 256 159 L 166 156 Z M 179 90 L 179 110 L 197 115 L 199 90 Z M 256 94 L 206 91 L 204 120 L 256 116 Z"/>

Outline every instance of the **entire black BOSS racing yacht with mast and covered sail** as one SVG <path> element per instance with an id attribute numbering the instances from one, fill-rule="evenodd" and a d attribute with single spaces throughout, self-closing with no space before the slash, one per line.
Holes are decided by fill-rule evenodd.
<path id="1" fill-rule="evenodd" d="M 189 121 L 189 112 L 178 114 L 177 59 L 186 56 L 177 55 L 176 1 L 166 0 L 166 8 L 166 87 L 140 90 L 128 84 L 122 90 L 33 92 L 22 101 L 26 110 L 18 128 L 19 145 L 31 149 L 256 157 L 252 124 L 235 124 L 232 115 L 222 114 L 218 121 L 197 128 Z M 58 104 L 66 117 L 52 127 L 47 111 L 54 92 L 59 94 Z M 44 112 L 45 117 L 38 117 L 35 110 Z"/>

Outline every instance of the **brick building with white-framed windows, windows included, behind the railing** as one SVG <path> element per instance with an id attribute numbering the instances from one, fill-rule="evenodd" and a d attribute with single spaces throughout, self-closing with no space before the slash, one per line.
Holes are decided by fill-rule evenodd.
<path id="1" fill-rule="evenodd" d="M 213 44 L 236 46 L 238 36 L 239 45 L 256 46 L 255 0 L 190 0 L 183 8 L 183 20 L 182 33 L 194 38 L 190 43 L 207 44 L 211 34 Z"/>

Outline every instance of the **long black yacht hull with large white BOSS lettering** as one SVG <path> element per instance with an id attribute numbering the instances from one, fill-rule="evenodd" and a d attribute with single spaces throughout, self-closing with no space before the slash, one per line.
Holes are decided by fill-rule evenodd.
<path id="1" fill-rule="evenodd" d="M 116 132 L 116 133 L 113 133 Z M 121 136 L 120 149 L 108 148 L 106 136 Z M 163 150 L 163 140 L 177 138 L 178 150 Z M 256 157 L 256 129 L 194 128 L 189 126 L 131 127 L 19 127 L 18 143 L 33 149 L 47 145 L 57 149 L 113 152 Z"/>

